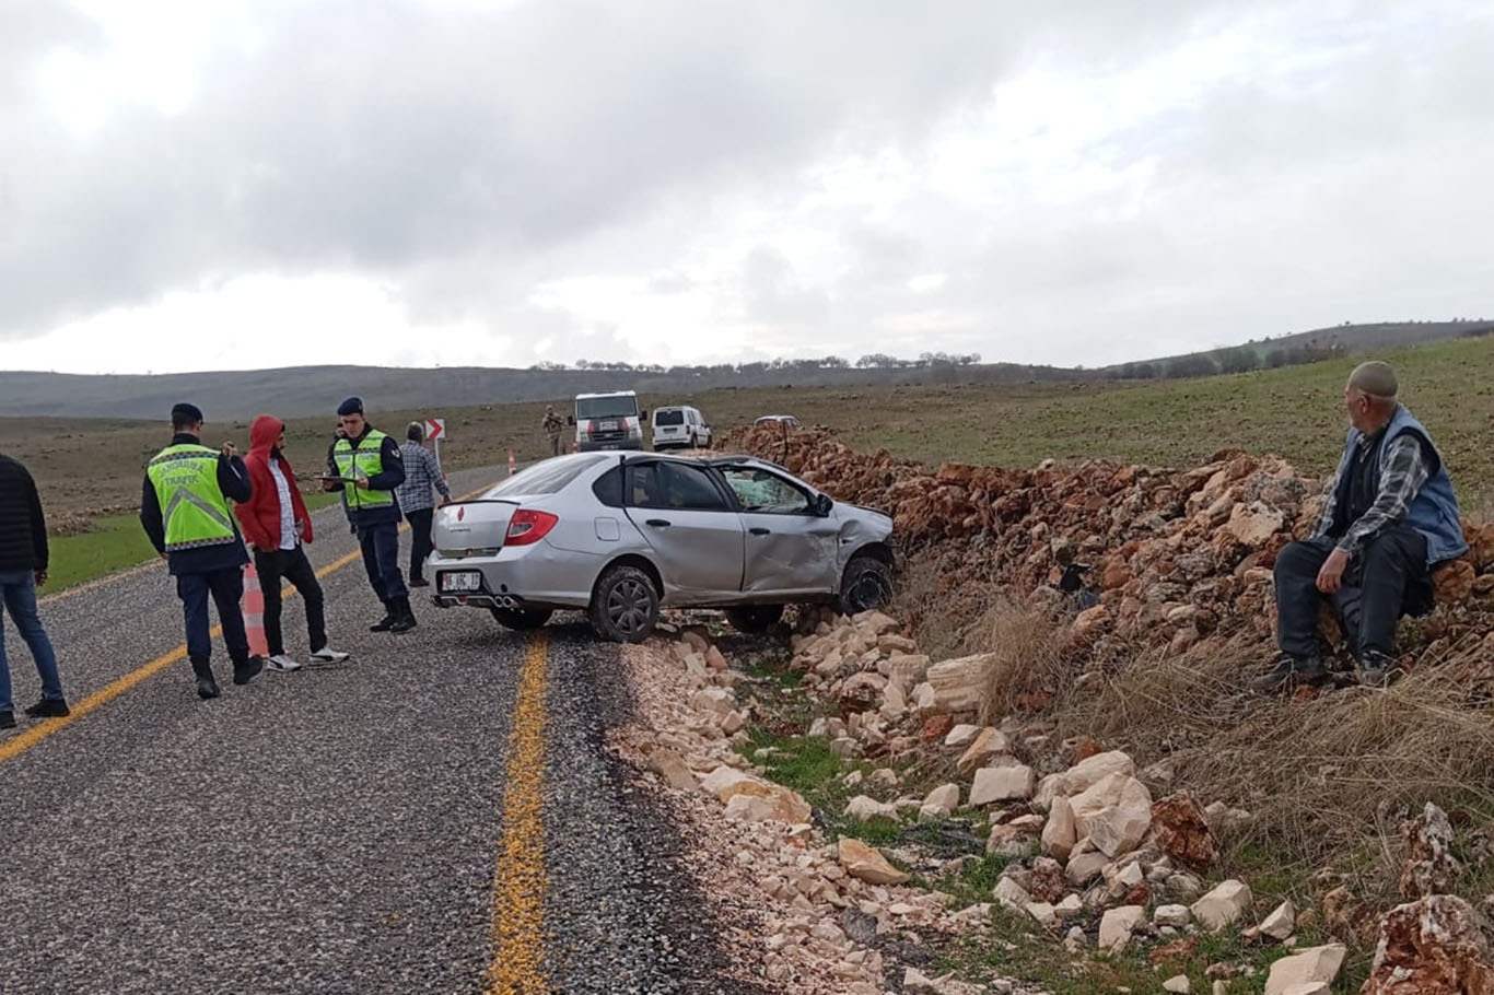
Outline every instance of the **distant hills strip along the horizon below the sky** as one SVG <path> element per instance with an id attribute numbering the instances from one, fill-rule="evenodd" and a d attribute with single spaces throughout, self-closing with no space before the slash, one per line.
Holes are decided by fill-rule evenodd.
<path id="1" fill-rule="evenodd" d="M 1270 366 L 1294 366 L 1330 356 L 1443 342 L 1494 333 L 1494 321 L 1400 321 L 1313 329 L 1222 350 L 1122 363 L 1098 371 L 1017 363 L 974 363 L 944 357 L 852 366 L 844 359 L 783 365 L 675 369 L 503 369 L 384 366 L 297 366 L 202 373 L 100 375 L 0 371 L 0 417 L 163 418 L 178 400 L 199 403 L 209 418 L 247 418 L 261 411 L 285 417 L 332 415 L 348 394 L 371 411 L 481 406 L 554 400 L 595 390 L 638 390 L 653 397 L 719 388 L 875 387 L 896 384 L 1031 384 L 1056 381 L 1206 376 Z"/>

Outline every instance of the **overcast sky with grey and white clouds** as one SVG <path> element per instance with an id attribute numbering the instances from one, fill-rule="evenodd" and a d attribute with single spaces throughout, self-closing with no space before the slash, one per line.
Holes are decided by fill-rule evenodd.
<path id="1" fill-rule="evenodd" d="M 0 0 L 0 368 L 1494 317 L 1494 0 Z"/>

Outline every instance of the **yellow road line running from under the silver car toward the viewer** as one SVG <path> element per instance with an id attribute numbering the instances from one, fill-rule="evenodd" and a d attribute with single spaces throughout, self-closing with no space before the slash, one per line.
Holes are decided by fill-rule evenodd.
<path id="1" fill-rule="evenodd" d="M 545 977 L 545 772 L 544 630 L 535 633 L 518 675 L 514 729 L 508 737 L 503 838 L 493 874 L 492 995 L 550 995 Z"/>

